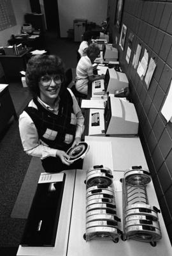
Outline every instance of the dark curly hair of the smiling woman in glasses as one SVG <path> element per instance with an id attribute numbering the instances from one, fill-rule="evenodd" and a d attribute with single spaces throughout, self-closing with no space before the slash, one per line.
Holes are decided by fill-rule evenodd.
<path id="1" fill-rule="evenodd" d="M 65 79 L 64 64 L 55 55 L 36 55 L 27 63 L 25 81 L 32 95 L 39 96 L 39 80 L 45 74 L 59 74 Z"/>

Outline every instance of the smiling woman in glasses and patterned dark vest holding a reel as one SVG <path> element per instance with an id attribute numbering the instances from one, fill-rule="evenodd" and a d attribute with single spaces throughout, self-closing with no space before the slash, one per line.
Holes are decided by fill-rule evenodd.
<path id="1" fill-rule="evenodd" d="M 39 157 L 46 172 L 75 169 L 76 162 L 69 166 L 66 161 L 66 151 L 80 142 L 84 118 L 75 96 L 64 86 L 61 58 L 32 57 L 25 78 L 33 99 L 19 118 L 24 151 Z"/>

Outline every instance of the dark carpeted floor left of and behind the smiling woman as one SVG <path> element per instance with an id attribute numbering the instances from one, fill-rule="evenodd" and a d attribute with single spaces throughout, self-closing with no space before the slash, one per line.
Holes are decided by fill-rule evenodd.
<path id="1" fill-rule="evenodd" d="M 45 35 L 45 48 L 50 54 L 59 55 L 66 69 L 76 68 L 78 45 L 68 38 L 59 39 L 52 33 Z M 27 88 L 22 87 L 20 81 L 10 83 L 9 90 L 17 114 L 20 115 L 31 95 Z M 25 220 L 11 218 L 11 212 L 31 161 L 31 157 L 23 151 L 16 120 L 11 120 L 6 131 L 0 134 L 0 156 L 0 255 L 14 256 L 17 253 Z"/>

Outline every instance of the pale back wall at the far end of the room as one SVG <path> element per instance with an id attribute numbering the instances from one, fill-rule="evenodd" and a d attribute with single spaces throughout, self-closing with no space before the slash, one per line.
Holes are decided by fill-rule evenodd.
<path id="1" fill-rule="evenodd" d="M 106 20 L 108 0 L 57 0 L 57 3 L 61 37 L 68 36 L 75 19 L 87 19 L 97 25 Z"/>

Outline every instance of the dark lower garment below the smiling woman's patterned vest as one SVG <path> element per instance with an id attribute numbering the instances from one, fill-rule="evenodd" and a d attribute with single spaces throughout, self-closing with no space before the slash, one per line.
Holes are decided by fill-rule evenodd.
<path id="1" fill-rule="evenodd" d="M 59 157 L 46 157 L 42 159 L 42 165 L 45 172 L 62 172 L 63 170 L 82 169 L 83 159 L 78 159 L 73 164 L 63 164 Z"/>

